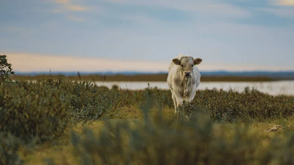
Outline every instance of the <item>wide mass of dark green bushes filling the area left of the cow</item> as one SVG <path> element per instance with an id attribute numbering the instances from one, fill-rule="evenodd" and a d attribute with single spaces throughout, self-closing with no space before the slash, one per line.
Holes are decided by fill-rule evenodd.
<path id="1" fill-rule="evenodd" d="M 63 77 L 4 82 L 0 84 L 0 132 L 11 133 L 25 146 L 52 142 L 71 124 L 111 117 L 122 102 L 118 92 Z M 1 159 L 9 161 L 4 151 Z"/>

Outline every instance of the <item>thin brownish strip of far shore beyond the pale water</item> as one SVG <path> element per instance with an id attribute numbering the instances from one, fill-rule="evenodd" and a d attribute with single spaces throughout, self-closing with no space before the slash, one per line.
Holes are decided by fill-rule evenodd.
<path id="1" fill-rule="evenodd" d="M 65 76 L 65 75 L 49 75 L 46 76 Z M 168 74 L 136 74 L 136 75 L 98 75 L 98 74 L 89 74 L 89 75 L 70 75 L 65 76 L 70 80 L 86 80 L 86 81 L 166 81 Z M 13 75 L 11 78 L 13 80 L 41 80 L 43 79 L 44 75 Z M 287 78 L 272 78 L 267 76 L 214 76 L 214 75 L 205 75 L 201 76 L 201 81 L 230 81 L 230 82 L 252 82 L 252 81 L 277 81 L 277 80 L 285 80 Z M 289 78 L 288 78 L 289 79 Z"/>

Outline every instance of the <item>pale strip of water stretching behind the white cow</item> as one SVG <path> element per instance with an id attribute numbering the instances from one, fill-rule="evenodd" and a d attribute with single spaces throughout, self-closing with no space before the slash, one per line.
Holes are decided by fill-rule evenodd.
<path id="1" fill-rule="evenodd" d="M 111 88 L 113 85 L 118 85 L 121 89 L 140 90 L 148 86 L 148 82 L 95 82 L 98 86 L 106 86 Z M 150 87 L 157 87 L 158 89 L 169 89 L 167 82 L 149 82 Z M 273 82 L 200 82 L 197 90 L 205 89 L 223 89 L 228 91 L 243 92 L 245 87 L 252 87 L 260 92 L 278 95 L 294 95 L 294 81 L 273 81 Z"/>

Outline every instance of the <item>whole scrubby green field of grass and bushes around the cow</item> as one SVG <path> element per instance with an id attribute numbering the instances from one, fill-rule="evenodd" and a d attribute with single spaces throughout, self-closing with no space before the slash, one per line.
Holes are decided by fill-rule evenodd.
<path id="1" fill-rule="evenodd" d="M 294 96 L 198 90 L 177 120 L 169 90 L 1 76 L 0 165 L 294 163 Z"/>

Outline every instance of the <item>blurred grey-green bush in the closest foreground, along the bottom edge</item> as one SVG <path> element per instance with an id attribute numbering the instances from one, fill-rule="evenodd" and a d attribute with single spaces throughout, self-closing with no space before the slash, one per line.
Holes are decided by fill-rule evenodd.
<path id="1" fill-rule="evenodd" d="M 147 114 L 146 112 L 144 114 Z M 262 143 L 264 134 L 236 126 L 216 125 L 195 114 L 193 121 L 163 118 L 159 113 L 131 126 L 110 123 L 96 135 L 73 133 L 74 156 L 80 165 L 285 165 L 293 164 L 294 133 Z"/>

